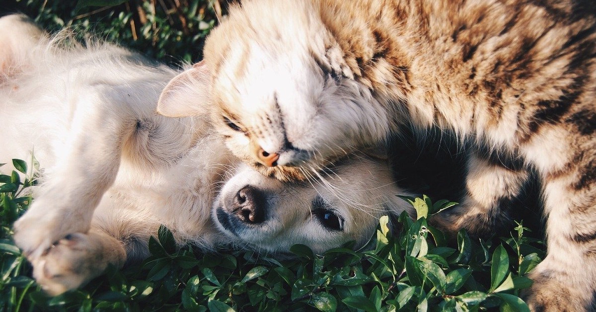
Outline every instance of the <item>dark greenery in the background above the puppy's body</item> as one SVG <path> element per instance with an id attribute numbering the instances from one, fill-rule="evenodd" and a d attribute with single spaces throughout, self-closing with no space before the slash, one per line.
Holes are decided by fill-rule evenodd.
<path id="1" fill-rule="evenodd" d="M 173 64 L 200 60 L 205 36 L 217 24 L 221 11 L 225 13 L 225 1 L 215 0 L 78 2 L 77 6 L 76 1 L 2 0 L 0 7 L 27 14 L 49 32 L 70 27 L 94 33 Z"/>

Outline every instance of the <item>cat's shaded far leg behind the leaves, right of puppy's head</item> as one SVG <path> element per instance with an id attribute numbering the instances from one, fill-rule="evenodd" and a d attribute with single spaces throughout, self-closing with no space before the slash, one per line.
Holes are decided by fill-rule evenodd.
<path id="1" fill-rule="evenodd" d="M 519 196 L 529 173 L 472 153 L 467 159 L 465 192 L 460 204 L 440 212 L 431 222 L 448 233 L 465 228 L 485 236 L 511 222 L 509 207 Z"/>

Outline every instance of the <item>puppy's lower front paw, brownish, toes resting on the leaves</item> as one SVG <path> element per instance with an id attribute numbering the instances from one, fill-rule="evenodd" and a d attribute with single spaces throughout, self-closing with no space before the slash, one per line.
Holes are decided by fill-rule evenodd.
<path id="1" fill-rule="evenodd" d="M 69 234 L 32 261 L 33 277 L 49 295 L 79 288 L 103 273 L 110 263 L 106 257 L 110 251 L 104 251 L 104 247 L 97 236 Z"/>

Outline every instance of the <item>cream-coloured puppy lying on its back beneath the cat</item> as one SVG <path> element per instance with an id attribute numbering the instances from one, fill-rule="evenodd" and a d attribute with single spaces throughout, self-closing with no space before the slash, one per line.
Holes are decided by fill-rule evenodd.
<path id="1" fill-rule="evenodd" d="M 32 152 L 43 168 L 14 239 L 49 294 L 82 285 L 110 263 L 146 257 L 160 224 L 178 243 L 206 250 L 285 252 L 303 243 L 322 252 L 350 240 L 362 246 L 381 215 L 406 209 L 378 159 L 355 155 L 311 184 L 284 184 L 240 165 L 212 133 L 209 106 L 191 118 L 155 113 L 179 72 L 134 52 L 83 47 L 65 33 L 49 38 L 15 15 L 0 18 L 0 62 L 0 163 L 7 163 L 0 172 Z M 246 187 L 258 223 L 243 219 L 238 194 Z M 342 228 L 326 227 L 327 217 Z"/>

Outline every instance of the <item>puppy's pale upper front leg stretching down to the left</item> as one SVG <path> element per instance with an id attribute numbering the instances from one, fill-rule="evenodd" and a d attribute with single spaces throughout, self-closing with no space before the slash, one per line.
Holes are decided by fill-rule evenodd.
<path id="1" fill-rule="evenodd" d="M 87 233 L 95 207 L 114 183 L 123 138 L 134 129 L 134 120 L 125 104 L 110 104 L 103 94 L 88 92 L 77 99 L 57 163 L 42 164 L 45 173 L 35 200 L 14 224 L 15 242 L 30 261 L 67 234 Z"/>

